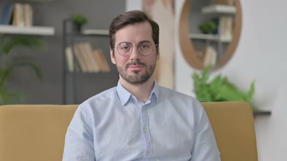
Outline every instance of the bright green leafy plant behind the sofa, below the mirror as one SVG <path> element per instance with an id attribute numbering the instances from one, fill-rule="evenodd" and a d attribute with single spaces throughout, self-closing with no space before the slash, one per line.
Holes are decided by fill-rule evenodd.
<path id="1" fill-rule="evenodd" d="M 201 74 L 194 72 L 192 75 L 194 92 L 200 102 L 246 101 L 251 104 L 253 110 L 256 110 L 251 103 L 255 90 L 254 81 L 251 82 L 249 91 L 243 92 L 221 74 L 209 80 L 211 67 L 212 65 L 208 65 Z"/>

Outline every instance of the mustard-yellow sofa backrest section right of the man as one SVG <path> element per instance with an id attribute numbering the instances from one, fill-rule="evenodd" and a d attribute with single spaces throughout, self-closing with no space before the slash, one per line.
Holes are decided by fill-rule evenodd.
<path id="1" fill-rule="evenodd" d="M 221 161 L 258 161 L 253 113 L 247 102 L 202 103 Z"/>

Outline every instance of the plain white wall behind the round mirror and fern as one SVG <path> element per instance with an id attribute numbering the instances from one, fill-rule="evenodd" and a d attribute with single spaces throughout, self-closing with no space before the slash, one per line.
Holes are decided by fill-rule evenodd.
<path id="1" fill-rule="evenodd" d="M 176 0 L 176 30 L 183 3 Z M 215 74 L 222 73 L 243 90 L 255 80 L 255 105 L 272 111 L 271 116 L 254 120 L 259 161 L 286 161 L 287 1 L 241 0 L 241 5 L 239 44 L 232 59 Z M 194 96 L 194 70 L 183 59 L 178 39 L 176 43 L 176 90 Z"/>

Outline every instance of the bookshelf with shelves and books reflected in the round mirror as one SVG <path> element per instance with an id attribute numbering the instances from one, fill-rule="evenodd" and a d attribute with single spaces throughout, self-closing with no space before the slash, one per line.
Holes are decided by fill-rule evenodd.
<path id="1" fill-rule="evenodd" d="M 235 14 L 236 8 L 233 5 L 221 5 L 213 4 L 203 6 L 201 8 L 201 15 L 207 16 L 206 14 L 213 15 L 213 18 L 209 21 L 216 24 L 215 34 L 207 33 L 190 33 L 189 37 L 192 40 L 204 40 L 205 50 L 197 49 L 197 56 L 203 62 L 203 66 L 206 67 L 208 64 L 216 65 L 218 60 L 222 58 L 225 52 L 225 47 L 232 41 L 232 30 L 233 30 L 233 16 L 228 14 Z M 221 14 L 221 15 L 218 15 Z M 206 20 L 205 20 L 206 21 Z M 214 32 L 214 31 L 213 31 Z M 211 45 L 212 42 L 215 44 Z M 194 43 L 194 44 L 198 44 Z M 196 46 L 195 46 L 196 47 Z M 198 47 L 198 46 L 197 46 Z"/>

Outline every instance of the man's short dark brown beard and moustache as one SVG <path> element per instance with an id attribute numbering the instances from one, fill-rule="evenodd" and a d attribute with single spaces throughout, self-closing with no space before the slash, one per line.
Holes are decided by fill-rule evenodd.
<path id="1" fill-rule="evenodd" d="M 139 70 L 133 70 L 132 72 L 134 74 L 128 75 L 126 69 L 129 65 L 143 65 L 146 68 L 146 71 L 143 74 L 140 74 Z M 124 68 L 117 65 L 118 72 L 122 76 L 122 78 L 128 83 L 133 84 L 133 85 L 143 84 L 146 81 L 148 81 L 151 75 L 153 74 L 155 67 L 156 67 L 156 63 L 153 65 L 147 66 L 146 64 L 143 64 L 140 61 L 134 61 L 134 62 L 127 63 L 124 66 Z"/>

